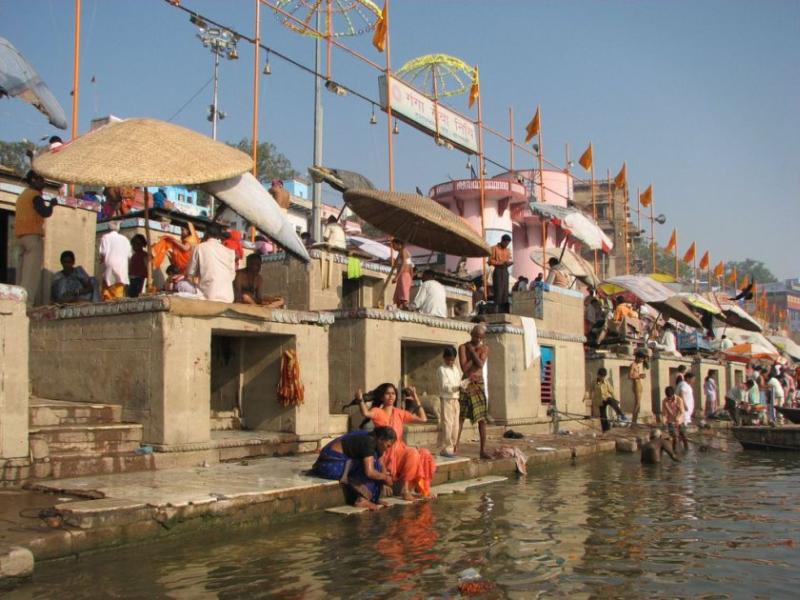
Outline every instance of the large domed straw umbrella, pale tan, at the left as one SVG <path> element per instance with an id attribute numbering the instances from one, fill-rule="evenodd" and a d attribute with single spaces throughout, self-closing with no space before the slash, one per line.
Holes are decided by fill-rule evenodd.
<path id="1" fill-rule="evenodd" d="M 252 167 L 244 152 L 156 119 L 109 123 L 33 161 L 44 177 L 94 186 L 191 185 Z"/>

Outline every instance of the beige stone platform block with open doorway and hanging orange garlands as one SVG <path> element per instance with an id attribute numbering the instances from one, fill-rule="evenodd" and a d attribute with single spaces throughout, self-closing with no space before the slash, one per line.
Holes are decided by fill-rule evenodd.
<path id="1" fill-rule="evenodd" d="M 248 427 L 311 437 L 342 429 L 328 413 L 330 317 L 163 296 L 51 313 L 32 324 L 34 392 L 121 404 L 125 420 L 144 425 L 145 442 L 210 439 L 212 336 L 249 350 L 237 358 Z M 282 408 L 276 373 L 280 351 L 289 348 L 298 354 L 305 402 Z"/>

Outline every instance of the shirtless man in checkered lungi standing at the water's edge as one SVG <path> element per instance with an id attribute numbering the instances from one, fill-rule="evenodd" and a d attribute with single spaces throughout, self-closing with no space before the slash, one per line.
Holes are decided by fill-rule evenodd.
<path id="1" fill-rule="evenodd" d="M 461 393 L 458 403 L 461 408 L 461 423 L 458 428 L 458 441 L 461 441 L 461 430 L 464 419 L 478 424 L 481 439 L 481 458 L 491 458 L 486 452 L 486 384 L 483 381 L 483 365 L 489 358 L 486 346 L 486 325 L 472 328 L 471 339 L 458 347 L 458 361 L 461 364 Z"/>

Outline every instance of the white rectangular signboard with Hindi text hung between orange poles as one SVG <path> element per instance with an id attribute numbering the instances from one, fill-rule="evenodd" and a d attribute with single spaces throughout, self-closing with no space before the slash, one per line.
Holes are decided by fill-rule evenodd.
<path id="1" fill-rule="evenodd" d="M 385 111 L 388 93 L 392 98 L 392 115 L 434 137 L 442 138 L 470 154 L 478 152 L 478 130 L 475 123 L 445 108 L 402 81 L 386 76 L 378 78 L 381 108 Z M 388 93 L 387 93 L 388 92 Z"/>

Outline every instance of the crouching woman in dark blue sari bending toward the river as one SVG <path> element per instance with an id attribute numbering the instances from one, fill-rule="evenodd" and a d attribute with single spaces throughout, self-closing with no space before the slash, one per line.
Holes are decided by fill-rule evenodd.
<path id="1" fill-rule="evenodd" d="M 348 504 L 377 510 L 384 485 L 394 481 L 382 473 L 379 457 L 397 441 L 390 427 L 373 431 L 351 431 L 336 438 L 319 453 L 311 472 L 317 477 L 338 480 L 344 486 Z"/>

